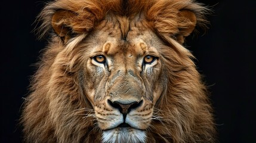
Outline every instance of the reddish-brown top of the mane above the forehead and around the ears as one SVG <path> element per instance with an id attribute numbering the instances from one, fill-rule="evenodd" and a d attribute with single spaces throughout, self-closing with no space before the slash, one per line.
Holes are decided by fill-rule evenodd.
<path id="1" fill-rule="evenodd" d="M 168 36 L 176 35 L 179 30 L 187 26 L 187 22 L 180 17 L 180 10 L 189 10 L 196 15 L 196 24 L 198 27 L 205 28 L 208 21 L 205 15 L 209 14 L 209 9 L 202 4 L 192 0 L 164 0 L 164 1 L 120 1 L 120 0 L 79 0 L 79 1 L 54 1 L 50 2 L 42 13 L 39 20 L 43 21 L 39 28 L 39 37 L 43 37 L 52 28 L 53 14 L 58 10 L 68 10 L 76 14 L 70 19 L 70 26 L 73 32 L 88 32 L 95 24 L 103 20 L 110 14 L 121 15 L 129 18 L 138 17 L 140 20 L 146 20 L 151 24 L 152 29 L 156 29 L 162 34 Z M 180 28 L 180 29 L 178 29 Z"/>

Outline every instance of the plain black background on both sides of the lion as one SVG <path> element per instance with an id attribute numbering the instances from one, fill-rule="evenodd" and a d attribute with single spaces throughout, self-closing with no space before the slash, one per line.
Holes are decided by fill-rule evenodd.
<path id="1" fill-rule="evenodd" d="M 213 6 L 205 35 L 190 36 L 187 48 L 209 85 L 219 142 L 256 142 L 255 0 L 199 1 Z M 1 2 L 1 140 L 21 142 L 20 107 L 46 40 L 32 32 L 44 2 Z"/>

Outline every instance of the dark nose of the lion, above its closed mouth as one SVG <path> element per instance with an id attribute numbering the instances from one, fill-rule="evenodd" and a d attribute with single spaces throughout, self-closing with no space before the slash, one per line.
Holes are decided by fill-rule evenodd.
<path id="1" fill-rule="evenodd" d="M 118 110 L 124 115 L 126 116 L 132 109 L 135 109 L 137 107 L 140 107 L 140 105 L 143 103 L 143 100 L 141 100 L 140 102 L 130 102 L 128 104 L 122 104 L 121 102 L 118 101 L 110 101 L 108 100 L 109 105 L 111 105 L 114 108 L 118 108 Z"/>

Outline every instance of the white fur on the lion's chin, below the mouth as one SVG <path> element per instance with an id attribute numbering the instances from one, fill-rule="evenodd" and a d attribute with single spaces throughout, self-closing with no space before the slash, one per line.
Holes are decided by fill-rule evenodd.
<path id="1" fill-rule="evenodd" d="M 146 142 L 146 133 L 143 130 L 131 128 L 116 128 L 103 131 L 102 142 L 104 143 L 139 143 Z"/>

